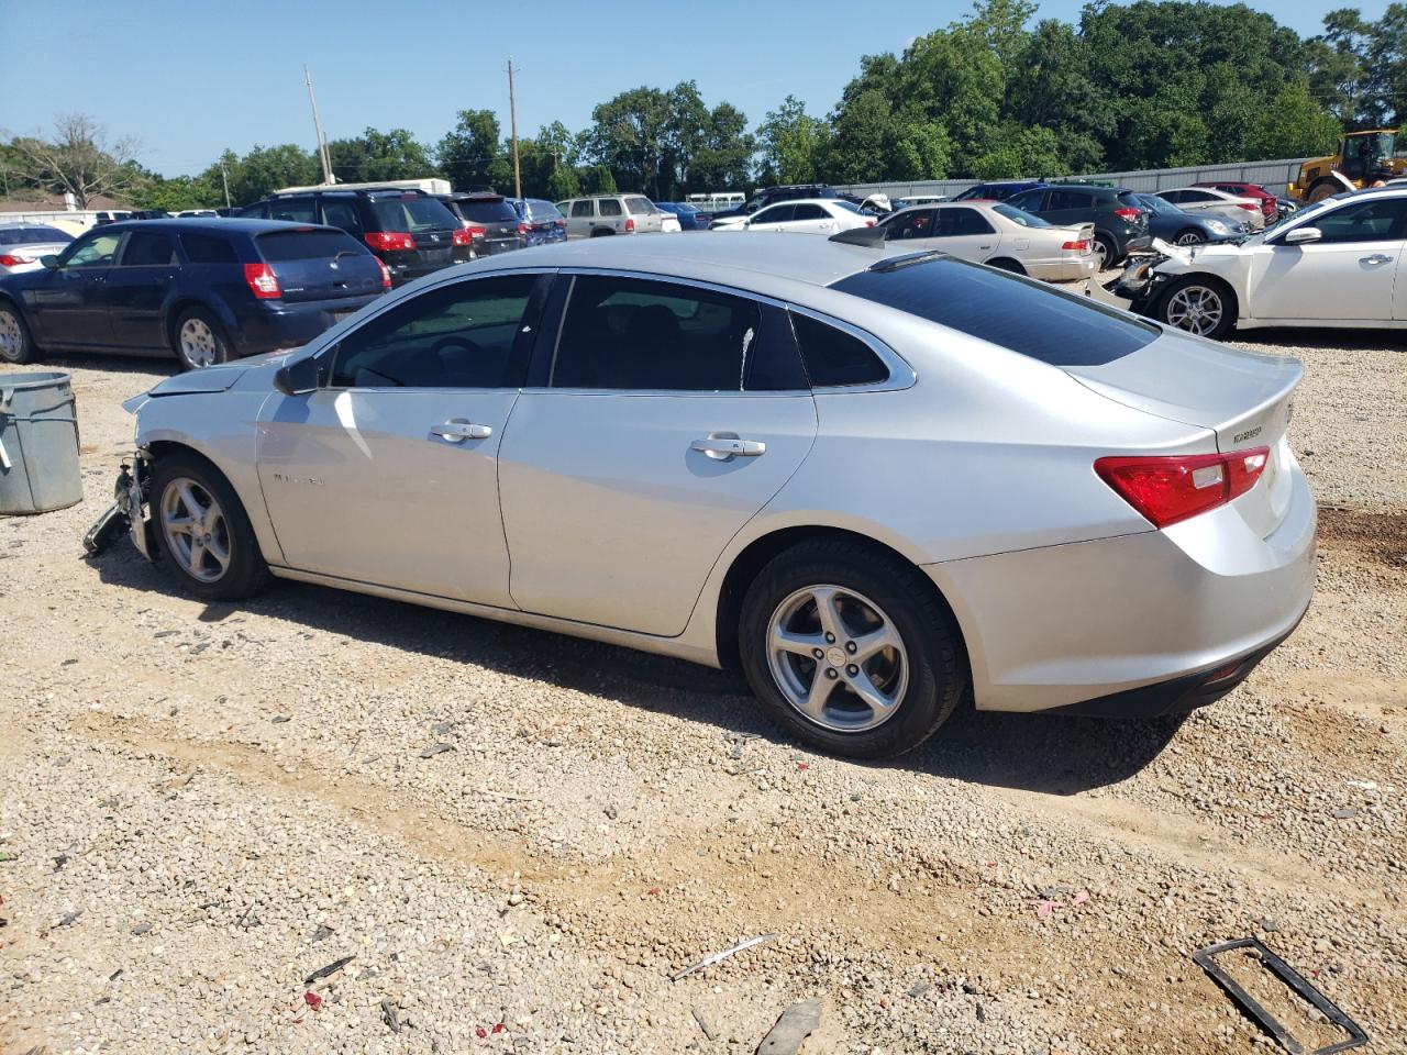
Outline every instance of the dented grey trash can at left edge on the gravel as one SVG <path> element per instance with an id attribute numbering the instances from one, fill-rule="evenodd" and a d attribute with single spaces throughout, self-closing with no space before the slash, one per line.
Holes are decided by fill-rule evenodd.
<path id="1" fill-rule="evenodd" d="M 68 374 L 0 374 L 0 515 L 83 501 L 79 419 Z"/>

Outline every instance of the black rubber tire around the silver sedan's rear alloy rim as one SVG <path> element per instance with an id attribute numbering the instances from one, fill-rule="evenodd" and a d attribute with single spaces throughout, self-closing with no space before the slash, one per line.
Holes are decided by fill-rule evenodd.
<path id="1" fill-rule="evenodd" d="M 798 592 L 820 585 L 871 601 L 899 634 L 908 684 L 882 724 L 846 731 L 813 722 L 788 701 L 772 674 L 768 630 L 774 613 Z M 743 598 L 739 657 L 753 692 L 781 726 L 823 751 L 851 758 L 889 758 L 913 750 L 953 715 L 968 689 L 961 633 L 933 585 L 912 564 L 854 539 L 803 542 L 763 568 Z M 827 667 L 825 660 L 796 663 L 813 663 L 815 678 Z M 844 667 L 839 660 L 830 663 Z"/>

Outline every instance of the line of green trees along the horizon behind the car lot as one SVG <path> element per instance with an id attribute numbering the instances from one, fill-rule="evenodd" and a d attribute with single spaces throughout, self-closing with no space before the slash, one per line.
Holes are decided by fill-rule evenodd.
<path id="1" fill-rule="evenodd" d="M 1244 4 L 1137 0 L 1085 6 L 1078 24 L 1031 0 L 978 0 L 902 53 L 865 55 L 825 115 L 788 96 L 756 129 L 698 86 L 637 87 L 577 132 L 560 121 L 519 139 L 522 190 L 561 200 L 637 190 L 657 200 L 768 183 L 1009 179 L 1294 158 L 1330 152 L 1345 128 L 1407 120 L 1407 3 L 1356 8 L 1301 38 Z M 511 193 L 509 142 L 492 110 L 463 110 L 438 142 L 404 128 L 333 139 L 342 181 L 443 176 Z M 144 208 L 253 201 L 318 183 L 295 143 L 225 151 L 197 176 L 163 177 L 84 117 L 52 136 L 0 143 L 0 191 L 106 193 Z"/>

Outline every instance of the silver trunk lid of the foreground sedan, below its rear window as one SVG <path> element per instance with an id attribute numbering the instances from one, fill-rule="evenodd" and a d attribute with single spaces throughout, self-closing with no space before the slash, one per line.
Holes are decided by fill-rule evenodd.
<path id="1" fill-rule="evenodd" d="M 1285 519 L 1294 464 L 1290 401 L 1304 377 L 1297 359 L 1164 332 L 1131 354 L 1065 371 L 1126 407 L 1211 430 L 1223 454 L 1268 447 L 1259 482 L 1234 505 L 1261 537 Z"/>

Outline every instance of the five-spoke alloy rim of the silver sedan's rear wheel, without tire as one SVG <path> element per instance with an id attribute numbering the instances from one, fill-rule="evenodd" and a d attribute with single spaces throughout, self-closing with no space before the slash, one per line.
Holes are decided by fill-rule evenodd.
<path id="1" fill-rule="evenodd" d="M 874 601 L 837 585 L 798 589 L 777 606 L 767 661 L 787 702 L 837 733 L 884 724 L 909 688 L 898 627 Z"/>

